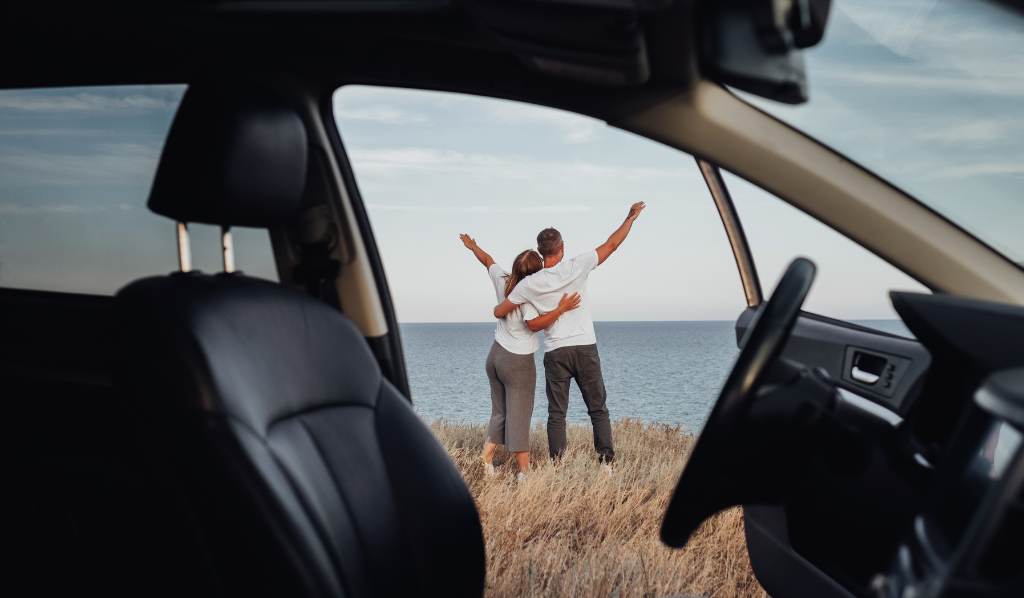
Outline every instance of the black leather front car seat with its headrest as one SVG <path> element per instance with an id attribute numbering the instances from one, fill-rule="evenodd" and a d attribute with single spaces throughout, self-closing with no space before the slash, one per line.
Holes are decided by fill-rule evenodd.
<path id="1" fill-rule="evenodd" d="M 287 222 L 307 143 L 272 93 L 194 85 L 150 208 L 222 226 Z M 482 594 L 465 483 L 337 309 L 197 272 L 136 281 L 115 307 L 118 386 L 144 407 L 150 462 L 201 529 L 211 594 Z"/>

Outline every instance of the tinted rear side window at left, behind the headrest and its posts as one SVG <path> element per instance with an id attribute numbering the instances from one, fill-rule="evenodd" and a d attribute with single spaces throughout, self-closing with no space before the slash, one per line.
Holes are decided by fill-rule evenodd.
<path id="1" fill-rule="evenodd" d="M 184 89 L 0 90 L 0 287 L 109 295 L 177 268 L 145 202 Z M 219 270 L 215 227 L 189 228 L 195 267 Z M 276 280 L 266 231 L 232 232 L 239 268 Z"/>

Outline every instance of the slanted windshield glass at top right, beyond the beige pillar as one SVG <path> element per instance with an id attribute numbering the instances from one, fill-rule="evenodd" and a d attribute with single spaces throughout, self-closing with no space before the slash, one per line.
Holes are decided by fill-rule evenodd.
<path id="1" fill-rule="evenodd" d="M 1024 263 L 1024 12 L 837 0 L 805 57 L 808 103 L 743 97 Z"/>

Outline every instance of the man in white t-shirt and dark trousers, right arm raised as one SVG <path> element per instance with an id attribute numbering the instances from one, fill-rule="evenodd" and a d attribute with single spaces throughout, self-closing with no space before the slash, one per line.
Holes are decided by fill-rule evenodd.
<path id="1" fill-rule="evenodd" d="M 643 202 L 630 206 L 626 220 L 596 250 L 563 260 L 565 246 L 554 228 L 537 236 L 537 250 L 544 257 L 544 269 L 523 279 L 508 298 L 495 307 L 495 317 L 505 317 L 517 305 L 529 303 L 540 313 L 558 307 L 565 293 L 580 293 L 580 307 L 567 311 L 544 333 L 544 378 L 548 394 L 548 451 L 552 459 L 565 452 L 565 412 L 569 402 L 569 381 L 575 380 L 587 403 L 594 427 L 594 448 L 601 463 L 615 457 L 611 441 L 611 419 L 605 404 L 607 393 L 597 352 L 597 336 L 590 315 L 587 279 L 626 241 L 633 222 L 645 208 Z"/>

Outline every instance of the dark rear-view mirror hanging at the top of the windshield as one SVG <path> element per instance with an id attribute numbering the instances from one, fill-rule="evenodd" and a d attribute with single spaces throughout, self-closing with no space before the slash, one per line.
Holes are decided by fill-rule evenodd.
<path id="1" fill-rule="evenodd" d="M 807 101 L 803 48 L 824 37 L 831 0 L 719 0 L 699 18 L 700 62 L 726 85 L 786 103 Z"/>

